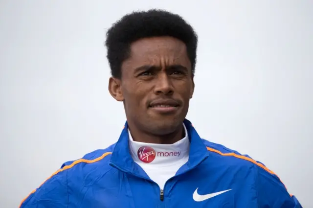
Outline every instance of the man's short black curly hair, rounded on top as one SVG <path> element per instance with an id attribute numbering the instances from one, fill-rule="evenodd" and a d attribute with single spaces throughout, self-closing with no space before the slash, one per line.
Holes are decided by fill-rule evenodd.
<path id="1" fill-rule="evenodd" d="M 112 76 L 121 78 L 121 66 L 130 55 L 133 42 L 159 36 L 171 36 L 185 43 L 194 75 L 198 44 L 196 32 L 179 15 L 151 9 L 127 14 L 108 30 L 105 45 Z"/>

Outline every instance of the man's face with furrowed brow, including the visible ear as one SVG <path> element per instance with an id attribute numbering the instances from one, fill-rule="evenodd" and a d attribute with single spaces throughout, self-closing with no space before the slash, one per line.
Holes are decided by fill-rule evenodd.
<path id="1" fill-rule="evenodd" d="M 110 79 L 109 90 L 124 102 L 128 122 L 155 135 L 173 133 L 194 92 L 185 44 L 172 37 L 140 39 L 121 70 L 120 80 Z"/>

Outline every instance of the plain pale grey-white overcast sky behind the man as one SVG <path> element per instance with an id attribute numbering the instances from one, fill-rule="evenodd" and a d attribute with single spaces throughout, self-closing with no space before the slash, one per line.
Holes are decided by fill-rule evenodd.
<path id="1" fill-rule="evenodd" d="M 106 30 L 165 8 L 199 34 L 187 117 L 202 138 L 265 163 L 312 206 L 313 1 L 0 0 L 0 207 L 69 160 L 114 143 Z"/>

